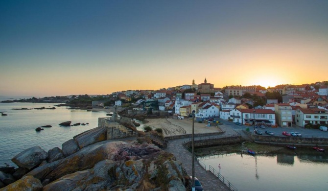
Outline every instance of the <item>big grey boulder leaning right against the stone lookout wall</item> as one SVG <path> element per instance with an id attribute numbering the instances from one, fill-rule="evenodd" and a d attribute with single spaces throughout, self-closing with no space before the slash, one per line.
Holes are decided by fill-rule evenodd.
<path id="1" fill-rule="evenodd" d="M 83 148 L 93 143 L 105 141 L 106 139 L 107 128 L 105 127 L 96 127 L 78 135 L 77 137 L 74 137 L 74 140 L 77 142 L 80 148 Z"/>

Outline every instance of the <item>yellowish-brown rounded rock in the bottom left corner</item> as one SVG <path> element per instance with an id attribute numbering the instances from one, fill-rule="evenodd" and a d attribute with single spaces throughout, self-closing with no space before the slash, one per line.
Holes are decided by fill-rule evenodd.
<path id="1" fill-rule="evenodd" d="M 1 191 L 42 191 L 41 181 L 33 176 L 25 176 L 22 179 L 4 187 Z"/>

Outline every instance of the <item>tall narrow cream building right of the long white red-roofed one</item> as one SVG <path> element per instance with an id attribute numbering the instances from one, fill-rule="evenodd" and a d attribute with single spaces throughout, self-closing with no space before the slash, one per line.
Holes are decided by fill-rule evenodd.
<path id="1" fill-rule="evenodd" d="M 291 127 L 293 122 L 292 106 L 288 103 L 275 103 L 275 113 L 278 125 Z"/>

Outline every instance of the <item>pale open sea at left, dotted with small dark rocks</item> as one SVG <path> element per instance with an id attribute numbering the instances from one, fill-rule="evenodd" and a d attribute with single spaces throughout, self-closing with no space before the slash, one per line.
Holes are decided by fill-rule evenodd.
<path id="1" fill-rule="evenodd" d="M 8 116 L 0 116 L 0 166 L 4 163 L 14 165 L 11 159 L 23 150 L 32 146 L 41 146 L 45 151 L 70 140 L 73 136 L 98 126 L 98 118 L 108 117 L 106 112 L 71 110 L 69 107 L 57 107 L 58 103 L 0 103 L 0 112 Z M 12 110 L 13 108 L 55 107 L 50 110 Z M 64 121 L 71 124 L 89 123 L 85 126 L 59 126 Z M 51 125 L 41 132 L 35 128 Z"/>

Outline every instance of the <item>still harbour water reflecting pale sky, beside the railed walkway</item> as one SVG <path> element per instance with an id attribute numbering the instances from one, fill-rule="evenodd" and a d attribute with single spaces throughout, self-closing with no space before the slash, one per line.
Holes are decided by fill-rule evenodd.
<path id="1" fill-rule="evenodd" d="M 328 153 L 311 149 L 282 150 L 272 155 L 232 153 L 202 161 L 238 191 L 327 191 Z"/>

